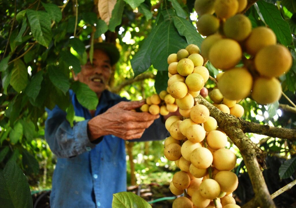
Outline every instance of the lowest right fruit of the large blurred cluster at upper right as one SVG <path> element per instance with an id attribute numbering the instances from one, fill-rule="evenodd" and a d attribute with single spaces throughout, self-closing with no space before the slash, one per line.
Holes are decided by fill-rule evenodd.
<path id="1" fill-rule="evenodd" d="M 259 77 L 254 81 L 251 96 L 263 105 L 274 103 L 281 97 L 281 83 L 274 77 Z"/>

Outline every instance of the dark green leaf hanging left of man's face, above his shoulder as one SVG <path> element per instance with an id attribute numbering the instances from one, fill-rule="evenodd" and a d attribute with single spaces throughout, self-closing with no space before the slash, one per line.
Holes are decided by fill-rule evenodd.
<path id="1" fill-rule="evenodd" d="M 49 79 L 58 89 L 62 90 L 64 94 L 68 92 L 70 88 L 69 79 L 65 76 L 65 74 L 56 66 L 49 65 L 47 67 L 49 73 Z"/>

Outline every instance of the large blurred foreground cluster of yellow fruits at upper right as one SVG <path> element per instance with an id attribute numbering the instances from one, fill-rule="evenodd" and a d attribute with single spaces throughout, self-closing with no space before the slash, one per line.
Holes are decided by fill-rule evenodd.
<path id="1" fill-rule="evenodd" d="M 239 14 L 246 5 L 247 0 L 195 1 L 197 30 L 207 36 L 201 55 L 226 71 L 218 82 L 224 97 L 240 100 L 251 95 L 260 104 L 273 103 L 281 97 L 277 78 L 291 68 L 292 56 L 277 44 L 271 29 L 252 29 L 249 18 Z M 236 67 L 241 60 L 242 66 Z"/>

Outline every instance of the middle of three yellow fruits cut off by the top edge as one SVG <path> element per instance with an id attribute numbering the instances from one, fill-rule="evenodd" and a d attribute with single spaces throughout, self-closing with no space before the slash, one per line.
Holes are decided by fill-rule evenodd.
<path id="1" fill-rule="evenodd" d="M 227 19 L 237 13 L 239 3 L 237 0 L 216 0 L 215 13 L 219 18 Z"/>

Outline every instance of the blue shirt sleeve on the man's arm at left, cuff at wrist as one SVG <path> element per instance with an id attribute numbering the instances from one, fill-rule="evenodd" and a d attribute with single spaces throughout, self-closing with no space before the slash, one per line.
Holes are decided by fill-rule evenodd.
<path id="1" fill-rule="evenodd" d="M 45 139 L 51 151 L 58 157 L 72 157 L 96 146 L 91 143 L 87 134 L 89 120 L 79 121 L 71 127 L 66 119 L 66 112 L 57 106 L 46 111 L 48 117 L 45 121 Z"/>

